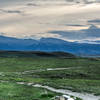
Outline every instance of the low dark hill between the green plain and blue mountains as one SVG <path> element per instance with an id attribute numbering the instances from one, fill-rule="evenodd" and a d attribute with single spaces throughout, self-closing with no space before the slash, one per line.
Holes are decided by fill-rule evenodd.
<path id="1" fill-rule="evenodd" d="M 0 57 L 76 57 L 66 52 L 40 52 L 40 51 L 0 51 Z"/>

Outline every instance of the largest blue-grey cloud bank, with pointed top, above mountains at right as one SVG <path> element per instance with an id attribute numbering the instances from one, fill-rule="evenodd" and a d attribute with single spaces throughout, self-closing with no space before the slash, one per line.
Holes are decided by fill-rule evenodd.
<path id="1" fill-rule="evenodd" d="M 88 29 L 79 31 L 49 31 L 49 33 L 59 34 L 61 37 L 71 40 L 100 38 L 100 28 L 94 25 L 91 25 Z"/>

